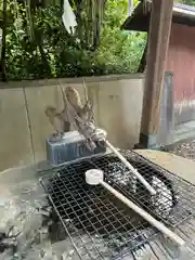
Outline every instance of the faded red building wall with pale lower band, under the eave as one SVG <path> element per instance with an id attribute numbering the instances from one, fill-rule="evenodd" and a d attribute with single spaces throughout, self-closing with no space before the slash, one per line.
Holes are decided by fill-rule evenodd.
<path id="1" fill-rule="evenodd" d="M 173 73 L 176 123 L 195 120 L 195 27 L 172 24 L 166 70 Z"/>

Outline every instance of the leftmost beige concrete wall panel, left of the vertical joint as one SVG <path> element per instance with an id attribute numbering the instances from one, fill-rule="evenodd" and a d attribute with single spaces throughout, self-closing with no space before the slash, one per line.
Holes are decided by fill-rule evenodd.
<path id="1" fill-rule="evenodd" d="M 0 170 L 32 164 L 24 89 L 0 90 Z"/>

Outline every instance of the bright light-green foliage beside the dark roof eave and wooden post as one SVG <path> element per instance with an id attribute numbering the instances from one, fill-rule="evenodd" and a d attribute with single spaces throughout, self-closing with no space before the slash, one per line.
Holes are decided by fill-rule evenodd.
<path id="1" fill-rule="evenodd" d="M 146 34 L 122 31 L 127 18 L 127 1 L 108 1 L 98 60 L 107 73 L 135 73 L 146 43 Z"/>

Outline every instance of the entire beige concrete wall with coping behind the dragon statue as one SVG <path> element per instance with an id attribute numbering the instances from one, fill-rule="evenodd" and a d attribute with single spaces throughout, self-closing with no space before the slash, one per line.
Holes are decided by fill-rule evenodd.
<path id="1" fill-rule="evenodd" d="M 0 170 L 46 159 L 44 139 L 53 129 L 44 116 L 47 105 L 63 107 L 61 86 L 73 86 L 83 98 L 86 81 L 98 126 L 116 146 L 139 141 L 143 77 L 107 76 L 0 83 Z"/>

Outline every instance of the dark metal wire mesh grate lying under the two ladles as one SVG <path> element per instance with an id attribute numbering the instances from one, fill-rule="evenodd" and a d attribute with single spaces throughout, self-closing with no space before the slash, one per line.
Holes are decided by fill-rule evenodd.
<path id="1" fill-rule="evenodd" d="M 104 170 L 106 182 L 171 227 L 195 213 L 192 184 L 135 152 L 122 154 L 156 188 L 157 195 L 151 196 L 113 154 L 70 162 L 53 170 L 49 180 L 42 180 L 80 259 L 120 259 L 129 253 L 134 259 L 133 253 L 158 234 L 102 186 L 88 185 L 84 172 L 89 169 Z"/>

